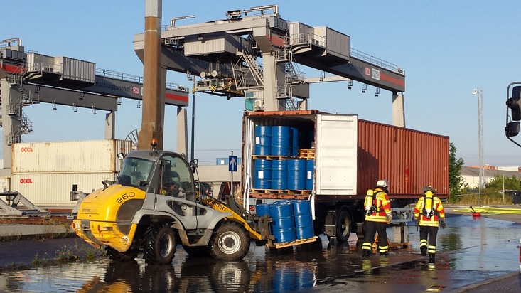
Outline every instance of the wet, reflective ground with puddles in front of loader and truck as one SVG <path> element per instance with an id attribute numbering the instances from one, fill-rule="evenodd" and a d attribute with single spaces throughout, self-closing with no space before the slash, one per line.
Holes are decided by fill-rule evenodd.
<path id="1" fill-rule="evenodd" d="M 388 233 L 393 242 L 400 241 L 399 228 Z M 252 245 L 244 260 L 233 262 L 191 258 L 179 247 L 173 264 L 166 266 L 147 266 L 141 258 L 100 259 L 0 272 L 0 292 L 307 292 L 336 285 L 353 292 L 378 291 L 381 286 L 390 292 L 403 291 L 404 286 L 416 292 L 450 291 L 516 271 L 520 235 L 521 225 L 453 216 L 447 228 L 439 230 L 435 267 L 419 255 L 419 233 L 412 226 L 404 235 L 411 245 L 392 250 L 389 257 L 362 259 L 356 235 L 350 246 L 329 246 L 321 237 L 318 250 L 299 247 L 273 253 Z"/>

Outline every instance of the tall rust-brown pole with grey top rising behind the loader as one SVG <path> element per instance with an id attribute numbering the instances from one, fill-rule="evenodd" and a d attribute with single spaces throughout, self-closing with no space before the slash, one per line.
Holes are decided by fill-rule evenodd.
<path id="1" fill-rule="evenodd" d="M 138 149 L 163 149 L 163 110 L 161 104 L 161 0 L 145 0 L 143 56 L 143 112 Z"/>

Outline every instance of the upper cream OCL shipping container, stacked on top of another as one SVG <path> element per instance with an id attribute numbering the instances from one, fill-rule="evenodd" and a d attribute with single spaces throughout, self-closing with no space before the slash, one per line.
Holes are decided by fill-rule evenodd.
<path id="1" fill-rule="evenodd" d="M 13 144 L 11 173 L 119 172 L 117 154 L 131 150 L 117 139 Z"/>

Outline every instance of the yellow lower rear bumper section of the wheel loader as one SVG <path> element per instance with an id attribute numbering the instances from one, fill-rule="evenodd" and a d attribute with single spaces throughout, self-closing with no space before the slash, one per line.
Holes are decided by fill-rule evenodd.
<path id="1" fill-rule="evenodd" d="M 98 221 L 82 221 L 74 220 L 72 229 L 76 235 L 85 240 L 93 247 L 100 249 L 102 245 L 107 245 L 119 252 L 129 250 L 137 225 L 131 223 L 127 233 L 119 230 L 117 223 L 114 222 L 98 222 Z"/>

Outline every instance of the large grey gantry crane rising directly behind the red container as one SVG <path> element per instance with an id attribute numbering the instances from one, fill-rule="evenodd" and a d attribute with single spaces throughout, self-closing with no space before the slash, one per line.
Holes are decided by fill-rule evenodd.
<path id="1" fill-rule="evenodd" d="M 392 92 L 393 124 L 404 127 L 402 68 L 350 48 L 350 37 L 326 26 L 281 18 L 277 5 L 227 11 L 226 19 L 161 31 L 161 68 L 198 75 L 194 91 L 245 97 L 246 110 L 306 109 L 309 83 L 298 65 L 331 73 L 319 80 L 353 80 Z M 134 36 L 144 60 L 145 34 Z M 262 63 L 259 61 L 262 59 Z"/>

